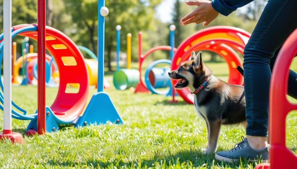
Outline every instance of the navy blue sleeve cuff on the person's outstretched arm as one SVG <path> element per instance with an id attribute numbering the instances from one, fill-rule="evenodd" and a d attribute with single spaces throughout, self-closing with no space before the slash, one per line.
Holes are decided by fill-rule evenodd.
<path id="1" fill-rule="evenodd" d="M 214 10 L 216 10 L 220 14 L 228 16 L 237 8 L 243 7 L 244 5 L 252 1 L 254 0 L 213 0 L 211 1 L 211 5 Z"/>

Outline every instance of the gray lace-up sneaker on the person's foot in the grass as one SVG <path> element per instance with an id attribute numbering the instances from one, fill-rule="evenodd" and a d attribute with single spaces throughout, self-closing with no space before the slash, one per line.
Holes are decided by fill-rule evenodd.
<path id="1" fill-rule="evenodd" d="M 247 139 L 244 138 L 244 136 L 241 136 L 241 141 L 237 143 L 233 149 L 230 149 L 228 151 L 217 152 L 215 158 L 219 161 L 229 163 L 233 163 L 239 160 L 240 157 L 242 160 L 244 158 L 247 158 L 250 161 L 257 161 L 259 159 L 262 159 L 263 162 L 267 162 L 269 160 L 269 146 L 270 145 L 268 144 L 265 148 L 261 150 L 255 150 L 249 146 Z"/>

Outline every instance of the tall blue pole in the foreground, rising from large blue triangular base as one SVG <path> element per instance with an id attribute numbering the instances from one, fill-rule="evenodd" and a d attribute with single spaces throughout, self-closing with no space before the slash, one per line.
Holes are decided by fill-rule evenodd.
<path id="1" fill-rule="evenodd" d="M 105 6 L 105 0 L 98 1 L 98 92 L 104 89 L 104 16 L 101 15 L 101 8 Z"/>

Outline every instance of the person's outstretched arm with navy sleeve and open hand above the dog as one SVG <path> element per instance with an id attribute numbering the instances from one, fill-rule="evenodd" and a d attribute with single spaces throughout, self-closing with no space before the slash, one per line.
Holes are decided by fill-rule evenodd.
<path id="1" fill-rule="evenodd" d="M 213 21 L 219 13 L 222 15 L 229 15 L 238 7 L 243 7 L 253 0 L 198 0 L 186 1 L 187 5 L 198 6 L 194 11 L 181 19 L 183 25 L 189 23 L 203 23 L 203 26 L 208 25 Z"/>

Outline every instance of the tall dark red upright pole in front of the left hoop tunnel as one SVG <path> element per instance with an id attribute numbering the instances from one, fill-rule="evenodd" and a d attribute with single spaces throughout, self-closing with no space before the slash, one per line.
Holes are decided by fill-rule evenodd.
<path id="1" fill-rule="evenodd" d="M 37 54 L 38 54 L 38 134 L 46 132 L 45 124 L 45 0 L 37 2 Z"/>

